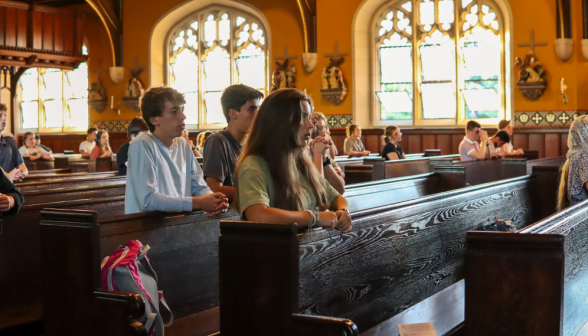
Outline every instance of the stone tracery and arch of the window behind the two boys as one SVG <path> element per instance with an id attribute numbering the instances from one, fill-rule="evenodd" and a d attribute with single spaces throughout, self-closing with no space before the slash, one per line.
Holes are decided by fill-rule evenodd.
<path id="1" fill-rule="evenodd" d="M 204 35 L 204 31 L 202 29 L 203 26 L 203 19 L 205 19 L 205 16 L 207 14 L 209 14 L 212 11 L 218 11 L 218 17 L 217 17 L 217 22 L 218 20 L 220 20 L 220 17 L 223 13 L 228 13 L 229 17 L 230 17 L 230 21 L 231 21 L 231 39 L 229 40 L 229 42 L 227 43 L 227 45 L 225 47 L 223 47 L 222 45 L 218 44 L 218 39 L 215 40 L 215 42 L 213 43 L 213 45 L 211 47 L 207 47 L 205 50 L 203 50 L 202 45 L 205 43 L 203 35 Z M 230 83 L 231 85 L 233 84 L 238 84 L 239 83 L 239 72 L 238 72 L 238 67 L 237 67 L 237 60 L 239 58 L 239 54 L 241 53 L 241 51 L 243 49 L 246 49 L 250 44 L 252 44 L 250 41 L 247 41 L 245 43 L 243 43 L 243 45 L 237 47 L 236 46 L 236 41 L 237 41 L 237 37 L 235 36 L 235 32 L 237 31 L 237 26 L 234 25 L 234 23 L 236 22 L 236 16 L 241 16 L 245 19 L 247 19 L 251 24 L 252 23 L 256 23 L 261 30 L 263 30 L 264 33 L 264 38 L 265 38 L 265 44 L 263 45 L 263 52 L 265 54 L 265 73 L 264 73 L 264 78 L 265 78 L 265 87 L 264 87 L 264 95 L 267 96 L 267 94 L 269 93 L 269 88 L 271 86 L 271 65 L 270 65 L 270 51 L 271 51 L 271 41 L 269 38 L 269 32 L 268 29 L 266 28 L 265 24 L 263 23 L 263 20 L 261 18 L 259 18 L 258 16 L 254 15 L 253 13 L 249 13 L 249 12 L 245 12 L 242 11 L 240 9 L 234 8 L 234 7 L 229 7 L 229 6 L 221 6 L 221 5 L 211 5 L 211 6 L 206 6 L 203 7 L 195 12 L 190 13 L 189 15 L 187 15 L 186 17 L 184 17 L 183 19 L 181 19 L 180 21 L 178 21 L 178 23 L 176 23 L 174 26 L 172 26 L 172 28 L 168 31 L 167 36 L 164 40 L 164 47 L 163 47 L 163 78 L 164 78 L 164 85 L 165 86 L 171 86 L 171 71 L 170 71 L 170 66 L 171 66 L 171 61 L 172 61 L 172 57 L 171 54 L 173 53 L 173 51 L 170 49 L 171 48 L 171 43 L 173 38 L 179 33 L 179 31 L 183 30 L 184 28 L 187 28 L 188 26 L 190 26 L 190 24 L 194 21 L 198 21 L 198 30 L 197 30 L 197 43 L 198 43 L 198 53 L 197 53 L 197 58 L 198 58 L 198 124 L 197 125 L 188 125 L 186 124 L 186 129 L 189 130 L 220 130 L 223 127 L 225 127 L 227 124 L 226 123 L 222 123 L 222 124 L 208 124 L 207 118 L 206 118 L 206 103 L 204 100 L 204 94 L 205 94 L 205 72 L 204 72 L 204 62 L 203 59 L 205 59 L 206 55 L 211 52 L 215 46 L 219 45 L 221 48 L 224 48 L 230 57 L 230 64 L 231 64 L 231 74 L 230 74 Z M 217 28 L 217 36 L 218 36 L 218 28 Z"/>

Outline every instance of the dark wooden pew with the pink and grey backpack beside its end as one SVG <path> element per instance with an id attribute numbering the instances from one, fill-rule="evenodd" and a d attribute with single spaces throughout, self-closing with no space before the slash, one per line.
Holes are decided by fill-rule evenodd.
<path id="1" fill-rule="evenodd" d="M 218 316 L 218 219 L 201 211 L 101 218 L 96 212 L 47 209 L 42 216 L 46 336 L 140 334 L 142 326 L 124 313 L 137 311 L 136 296 L 99 288 L 100 261 L 131 239 L 151 246 L 158 287 L 175 315 L 174 325 L 167 328 L 170 335 L 218 331 L 218 317 L 211 321 L 209 311 L 215 309 L 212 315 Z M 239 216 L 230 210 L 224 218 Z M 77 276 L 69 279 L 67 274 Z M 112 295 L 123 300 L 114 301 Z M 92 325 L 94 321 L 100 323 Z"/>

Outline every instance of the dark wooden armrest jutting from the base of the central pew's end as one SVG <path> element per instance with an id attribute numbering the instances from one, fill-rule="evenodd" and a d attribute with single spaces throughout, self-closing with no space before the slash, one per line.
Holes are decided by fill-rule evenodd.
<path id="1" fill-rule="evenodd" d="M 353 321 L 343 318 L 292 314 L 297 335 L 304 336 L 359 336 Z"/>

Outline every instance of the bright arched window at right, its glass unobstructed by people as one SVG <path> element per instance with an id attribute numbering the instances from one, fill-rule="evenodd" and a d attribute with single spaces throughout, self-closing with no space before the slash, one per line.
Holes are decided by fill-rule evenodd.
<path id="1" fill-rule="evenodd" d="M 491 0 L 400 0 L 374 22 L 376 123 L 497 124 L 507 97 L 503 18 Z"/>

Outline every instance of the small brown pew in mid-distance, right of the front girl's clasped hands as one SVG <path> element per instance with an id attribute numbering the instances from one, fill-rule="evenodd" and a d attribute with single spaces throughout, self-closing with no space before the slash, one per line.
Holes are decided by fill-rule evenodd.
<path id="1" fill-rule="evenodd" d="M 459 155 L 435 157 L 435 159 L 456 159 Z M 364 159 L 362 165 L 353 165 L 345 169 L 345 183 L 362 183 L 386 178 L 425 174 L 431 171 L 433 162 L 430 158 L 405 160 Z"/>

